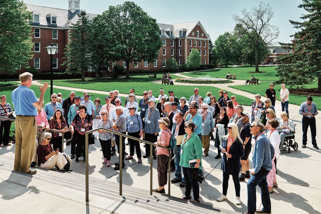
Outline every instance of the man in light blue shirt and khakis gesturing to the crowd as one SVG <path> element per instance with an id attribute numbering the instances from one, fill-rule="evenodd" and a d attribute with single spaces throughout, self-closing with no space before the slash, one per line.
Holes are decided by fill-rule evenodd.
<path id="1" fill-rule="evenodd" d="M 42 107 L 43 96 L 48 88 L 48 83 L 45 83 L 42 87 L 39 86 L 40 96 L 38 101 L 35 93 L 29 89 L 32 85 L 32 74 L 25 72 L 19 76 L 19 79 L 21 85 L 11 93 L 11 100 L 16 113 L 16 145 L 13 170 L 27 174 L 36 174 L 36 170 L 30 169 L 35 147 L 34 142 L 37 135 L 35 116 L 38 113 L 37 109 Z"/>

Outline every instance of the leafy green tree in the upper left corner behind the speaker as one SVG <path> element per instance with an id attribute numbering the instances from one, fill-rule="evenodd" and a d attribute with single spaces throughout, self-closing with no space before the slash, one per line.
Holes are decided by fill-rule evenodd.
<path id="1" fill-rule="evenodd" d="M 19 0 L 0 1 L 0 72 L 29 67 L 32 59 L 32 15 Z"/>

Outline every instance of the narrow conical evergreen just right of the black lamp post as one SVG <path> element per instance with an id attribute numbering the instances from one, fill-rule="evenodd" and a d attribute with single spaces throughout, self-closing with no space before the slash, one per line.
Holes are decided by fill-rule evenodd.
<path id="1" fill-rule="evenodd" d="M 85 11 L 77 14 L 78 20 L 72 24 L 73 31 L 70 34 L 70 42 L 66 46 L 63 65 L 67 65 L 66 72 L 69 74 L 82 74 L 91 66 L 91 51 L 93 40 L 91 37 L 91 24 Z"/>

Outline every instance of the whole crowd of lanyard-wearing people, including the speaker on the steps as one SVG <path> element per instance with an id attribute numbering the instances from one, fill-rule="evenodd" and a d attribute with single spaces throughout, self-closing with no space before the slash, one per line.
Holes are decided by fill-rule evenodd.
<path id="1" fill-rule="evenodd" d="M 276 92 L 273 84 L 265 92 L 265 101 L 261 101 L 261 95 L 256 94 L 252 102 L 251 112 L 243 112 L 244 108 L 236 101 L 236 95 L 228 96 L 228 92 L 220 90 L 217 99 L 211 92 L 203 98 L 199 89 L 194 89 L 194 94 L 187 100 L 178 98 L 174 91 L 170 90 L 166 95 L 160 90 L 158 103 L 152 95 L 152 90 L 144 91 L 139 103 L 134 89 L 124 101 L 118 96 L 118 91 L 110 91 L 105 97 L 105 103 L 100 98 L 94 102 L 87 92 L 83 96 L 76 96 L 70 92 L 66 99 L 62 94 L 52 94 L 51 102 L 43 103 L 43 95 L 48 87 L 44 84 L 40 89 L 40 97 L 37 99 L 34 92 L 29 89 L 32 75 L 28 72 L 20 75 L 21 85 L 12 92 L 12 102 L 16 114 L 16 147 L 14 170 L 35 174 L 30 169 L 36 164 L 43 168 L 57 166 L 63 170 L 65 165 L 75 159 L 78 163 L 83 156 L 85 147 L 85 132 L 96 128 L 105 128 L 127 134 L 134 138 L 141 138 L 151 144 L 145 144 L 145 154 L 142 156 L 139 140 L 128 138 L 129 155 L 125 147 L 125 137 L 110 132 L 99 130 L 94 132 L 102 151 L 102 164 L 111 166 L 111 156 L 122 153 L 123 160 L 115 163 L 115 170 L 119 170 L 120 161 L 124 168 L 126 160 L 137 155 L 137 163 L 142 163 L 142 158 L 152 156 L 157 160 L 158 188 L 154 192 L 165 193 L 165 185 L 168 173 L 175 172 L 175 178 L 171 183 L 180 182 L 180 187 L 185 187 L 184 199 L 191 199 L 191 191 L 195 202 L 199 201 L 199 183 L 195 180 L 195 174 L 204 176 L 202 159 L 211 157 L 209 147 L 211 140 L 217 148 L 215 159 L 222 158 L 221 169 L 223 171 L 222 194 L 217 201 L 227 199 L 228 180 L 230 175 L 235 186 L 235 203 L 241 204 L 240 183 L 247 182 L 247 213 L 270 213 L 271 202 L 269 193 L 273 192 L 276 183 L 276 155 L 284 150 L 284 139 L 293 136 L 294 123 L 289 119 L 288 103 L 289 91 L 282 84 L 280 99 L 282 101 L 281 119 L 275 115 Z M 205 94 L 205 93 L 204 93 Z M 156 96 L 157 97 L 157 96 Z M 6 97 L 1 96 L 1 116 L 8 117 L 13 113 L 11 105 L 6 103 Z M 303 144 L 307 144 L 308 126 L 311 129 L 312 145 L 318 149 L 316 142 L 315 116 L 318 114 L 316 104 L 311 96 L 300 106 L 299 114 L 302 115 Z M 44 109 L 42 109 L 44 106 Z M 9 145 L 8 129 L 11 123 L 1 119 L 1 142 Z M 37 125 L 38 130 L 36 138 Z M 4 129 L 4 134 L 2 130 Z M 48 132 L 52 129 L 52 134 Z M 71 140 L 70 157 L 60 153 L 62 134 L 68 129 L 73 134 Z M 215 132 L 215 134 L 213 134 Z M 26 134 L 28 133 L 28 134 Z M 23 138 L 22 138 L 23 136 Z M 177 153 L 171 162 L 168 172 L 169 156 L 174 156 L 173 151 L 162 147 L 168 147 L 171 137 L 176 138 Z M 214 137 L 215 136 L 215 137 Z M 67 138 L 67 135 L 65 135 Z M 122 141 L 122 142 L 120 142 Z M 254 141 L 254 142 L 253 142 Z M 120 151 L 122 143 L 123 151 Z M 52 146 L 51 146 L 52 144 Z M 253 146 L 252 146 L 253 144 Z M 69 143 L 66 143 L 68 146 Z M 151 153 L 152 145 L 152 153 Z M 162 146 L 162 147 L 159 147 Z M 202 149 L 203 147 L 203 149 Z M 253 147 L 253 149 L 252 149 Z M 252 153 L 253 168 L 249 168 L 249 155 Z M 127 157 L 125 155 L 128 155 Z M 38 156 L 38 158 L 37 158 Z M 38 163 L 37 163 L 38 162 Z M 241 173 L 240 173 L 241 171 Z M 183 172 L 183 174 L 182 174 Z M 256 186 L 261 188 L 262 210 L 256 210 Z"/>

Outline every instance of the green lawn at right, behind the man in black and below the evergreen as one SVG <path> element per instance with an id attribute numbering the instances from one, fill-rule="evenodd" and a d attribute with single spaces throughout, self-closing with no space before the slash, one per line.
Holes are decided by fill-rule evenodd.
<path id="1" fill-rule="evenodd" d="M 239 89 L 241 91 L 246 91 L 252 94 L 261 94 L 261 96 L 265 96 L 265 91 L 269 88 L 270 83 L 273 82 L 262 82 L 259 85 L 232 85 L 229 86 L 231 88 Z M 306 85 L 305 88 L 317 88 L 317 83 Z M 274 85 L 274 89 L 276 91 L 276 99 L 280 100 L 280 89 L 281 85 Z M 306 95 L 297 95 L 297 94 L 290 94 L 289 103 L 295 105 L 301 105 L 301 103 L 305 102 L 307 99 L 308 94 Z M 317 109 L 321 110 L 321 97 L 314 96 L 313 102 L 317 104 Z"/>

